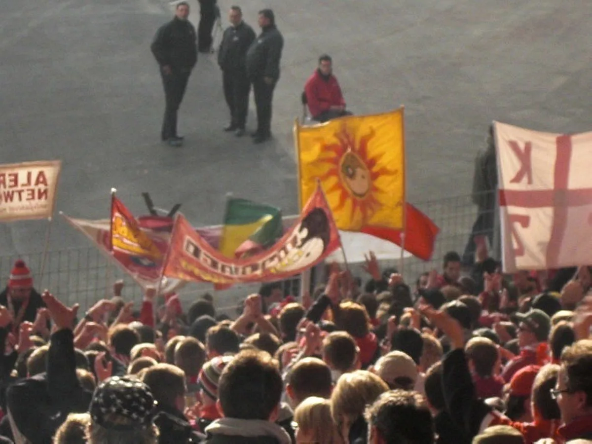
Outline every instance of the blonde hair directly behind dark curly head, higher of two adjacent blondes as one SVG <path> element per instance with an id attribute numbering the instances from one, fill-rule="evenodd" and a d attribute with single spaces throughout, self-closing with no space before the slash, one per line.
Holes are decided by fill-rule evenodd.
<path id="1" fill-rule="evenodd" d="M 387 383 L 371 372 L 356 370 L 343 374 L 331 395 L 333 422 L 342 423 L 343 417 L 355 421 L 385 391 L 388 391 Z"/>

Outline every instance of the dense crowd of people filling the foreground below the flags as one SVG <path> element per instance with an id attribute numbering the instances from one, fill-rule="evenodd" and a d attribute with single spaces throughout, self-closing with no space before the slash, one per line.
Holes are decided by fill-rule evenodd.
<path id="1" fill-rule="evenodd" d="M 117 282 L 84 314 L 18 260 L 0 294 L 0 442 L 592 442 L 588 267 L 504 276 L 480 247 L 414 282 L 328 269 L 236 318 Z M 584 440 L 584 441 L 583 441 Z"/>

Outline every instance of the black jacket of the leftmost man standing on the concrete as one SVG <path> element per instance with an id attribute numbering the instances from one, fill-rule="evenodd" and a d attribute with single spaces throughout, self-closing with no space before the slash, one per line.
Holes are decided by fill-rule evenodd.
<path id="1" fill-rule="evenodd" d="M 195 28 L 191 22 L 175 17 L 156 31 L 150 49 L 161 67 L 186 71 L 197 63 L 195 40 Z"/>

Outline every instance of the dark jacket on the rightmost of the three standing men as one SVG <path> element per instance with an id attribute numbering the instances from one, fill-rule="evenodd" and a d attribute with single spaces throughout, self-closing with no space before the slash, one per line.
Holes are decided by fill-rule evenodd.
<path id="1" fill-rule="evenodd" d="M 279 60 L 284 49 L 284 37 L 275 25 L 263 28 L 247 51 L 247 75 L 255 80 L 262 77 L 279 79 Z"/>

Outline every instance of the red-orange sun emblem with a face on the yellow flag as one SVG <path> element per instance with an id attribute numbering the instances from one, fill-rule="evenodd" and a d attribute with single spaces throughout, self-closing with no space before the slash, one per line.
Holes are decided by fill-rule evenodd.
<path id="1" fill-rule="evenodd" d="M 388 199 L 388 191 L 378 185 L 378 179 L 382 175 L 397 175 L 398 170 L 382 165 L 383 153 L 369 156 L 368 145 L 375 137 L 374 128 L 370 127 L 356 141 L 355 134 L 344 123 L 334 137 L 336 143 L 323 141 L 317 165 L 324 172 L 318 179 L 324 183 L 336 179 L 324 190 L 330 201 L 337 202 L 332 205 L 333 213 L 348 207 L 350 219 L 361 218 L 364 225 L 384 203 L 388 203 L 384 202 Z"/>

